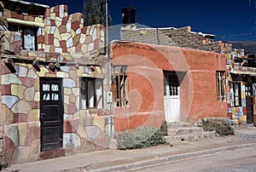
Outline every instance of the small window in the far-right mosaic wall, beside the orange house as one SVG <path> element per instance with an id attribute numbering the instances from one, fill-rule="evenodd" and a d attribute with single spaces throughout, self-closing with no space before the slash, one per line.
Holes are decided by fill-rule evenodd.
<path id="1" fill-rule="evenodd" d="M 230 83 L 231 106 L 241 106 L 241 83 Z"/>

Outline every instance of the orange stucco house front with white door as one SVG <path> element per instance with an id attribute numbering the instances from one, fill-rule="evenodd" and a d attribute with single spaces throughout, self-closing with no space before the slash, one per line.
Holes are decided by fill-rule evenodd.
<path id="1" fill-rule="evenodd" d="M 112 43 L 111 52 L 115 131 L 227 117 L 217 91 L 224 54 L 131 42 Z"/>

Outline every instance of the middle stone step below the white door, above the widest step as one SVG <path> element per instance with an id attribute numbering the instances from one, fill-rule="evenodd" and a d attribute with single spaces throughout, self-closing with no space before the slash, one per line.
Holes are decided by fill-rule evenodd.
<path id="1" fill-rule="evenodd" d="M 180 127 L 180 128 L 168 128 L 168 135 L 189 135 L 202 133 L 203 129 L 201 127 Z"/>

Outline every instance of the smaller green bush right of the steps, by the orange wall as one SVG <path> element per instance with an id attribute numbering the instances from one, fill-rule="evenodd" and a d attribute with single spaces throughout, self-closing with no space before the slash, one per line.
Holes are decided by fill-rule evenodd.
<path id="1" fill-rule="evenodd" d="M 203 118 L 201 119 L 202 128 L 205 131 L 216 131 L 217 135 L 234 135 L 229 118 Z"/>

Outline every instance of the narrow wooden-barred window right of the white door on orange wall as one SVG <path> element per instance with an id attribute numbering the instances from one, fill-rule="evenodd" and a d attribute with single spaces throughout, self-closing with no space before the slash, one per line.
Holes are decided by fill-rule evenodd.
<path id="1" fill-rule="evenodd" d="M 224 72 L 216 72 L 217 100 L 225 100 L 225 77 Z"/>

